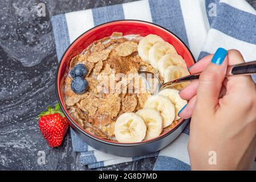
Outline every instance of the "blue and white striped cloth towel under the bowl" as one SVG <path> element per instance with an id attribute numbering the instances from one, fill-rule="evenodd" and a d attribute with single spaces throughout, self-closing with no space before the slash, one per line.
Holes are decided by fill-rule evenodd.
<path id="1" fill-rule="evenodd" d="M 58 59 L 80 34 L 118 19 L 145 20 L 168 28 L 185 42 L 197 60 L 218 47 L 238 49 L 245 60 L 256 60 L 256 11 L 244 0 L 144 0 L 56 15 L 51 22 Z M 81 163 L 89 168 L 157 156 L 155 170 L 190 169 L 188 126 L 168 147 L 137 158 L 120 158 L 94 150 L 72 130 L 71 137 L 74 151 L 81 152 Z"/>

